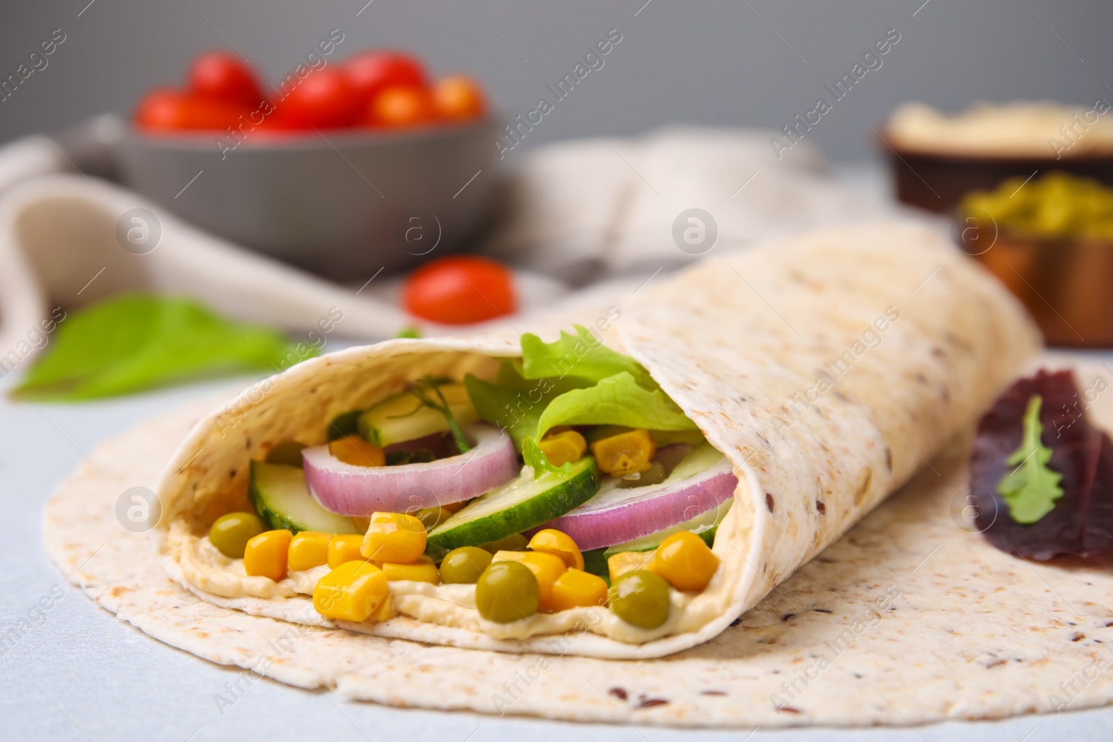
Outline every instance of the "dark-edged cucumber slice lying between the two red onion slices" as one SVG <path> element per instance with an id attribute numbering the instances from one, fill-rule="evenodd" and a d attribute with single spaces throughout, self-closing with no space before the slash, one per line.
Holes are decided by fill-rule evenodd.
<path id="1" fill-rule="evenodd" d="M 434 557 L 459 546 L 481 546 L 546 523 L 599 492 L 599 467 L 591 456 L 572 462 L 571 472 L 546 472 L 536 479 L 526 469 L 501 487 L 480 495 L 429 533 Z"/>

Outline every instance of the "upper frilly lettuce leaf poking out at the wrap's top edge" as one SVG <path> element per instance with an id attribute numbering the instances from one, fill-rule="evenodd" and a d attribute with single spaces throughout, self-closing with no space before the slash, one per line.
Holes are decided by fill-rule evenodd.
<path id="1" fill-rule="evenodd" d="M 528 379 L 579 378 L 591 384 L 626 372 L 647 389 L 658 388 L 641 364 L 611 350 L 581 325 L 575 335 L 561 332 L 560 339 L 544 343 L 531 333 L 522 336 L 522 376 Z"/>

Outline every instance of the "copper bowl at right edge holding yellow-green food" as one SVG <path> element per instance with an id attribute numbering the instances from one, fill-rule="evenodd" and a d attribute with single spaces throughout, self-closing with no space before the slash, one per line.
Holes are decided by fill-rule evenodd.
<path id="1" fill-rule="evenodd" d="M 1018 237 L 958 224 L 959 247 L 1028 308 L 1048 345 L 1113 347 L 1113 240 Z"/>

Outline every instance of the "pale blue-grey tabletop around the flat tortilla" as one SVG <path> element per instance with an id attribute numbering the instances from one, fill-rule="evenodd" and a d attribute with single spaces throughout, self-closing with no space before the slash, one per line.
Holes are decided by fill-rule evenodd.
<path id="1" fill-rule="evenodd" d="M 876 184 L 876 177 L 867 179 Z M 10 382 L 0 382 L 0 394 Z M 248 383 L 244 379 L 240 386 Z M 221 713 L 214 696 L 225 692 L 225 683 L 238 671 L 147 636 L 66 583 L 43 552 L 41 514 L 62 477 L 100 442 L 146 417 L 235 385 L 228 380 L 195 384 L 81 405 L 14 405 L 0 398 L 0 635 L 28 617 L 41 596 L 65 590 L 41 616 L 30 614 L 33 627 L 19 642 L 0 645 L 0 742 L 567 742 L 572 736 L 579 742 L 679 742 L 693 736 L 735 742 L 1083 742 L 1109 740 L 1113 732 L 1113 709 L 915 729 L 691 731 L 571 724 L 390 709 L 270 680 L 255 682 Z"/>

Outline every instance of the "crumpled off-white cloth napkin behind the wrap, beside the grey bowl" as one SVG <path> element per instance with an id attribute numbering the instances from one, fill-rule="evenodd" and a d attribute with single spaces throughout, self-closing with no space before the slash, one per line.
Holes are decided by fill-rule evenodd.
<path id="1" fill-rule="evenodd" d="M 827 176 L 812 148 L 795 147 L 778 160 L 769 136 L 673 128 L 519 156 L 505 180 L 503 216 L 479 251 L 515 269 L 520 309 L 491 324 L 567 315 L 587 299 L 568 294 L 569 285 L 624 279 L 593 293 L 618 300 L 651 274 L 698 259 L 698 250 L 673 239 L 673 224 L 689 208 L 712 215 L 720 249 L 887 210 Z M 152 212 L 161 231 L 157 247 L 141 255 L 125 249 L 117 234 L 121 215 L 136 208 Z M 28 333 L 53 307 L 129 290 L 194 296 L 233 321 L 294 333 L 312 329 L 333 307 L 344 313 L 336 333 L 361 340 L 410 326 L 426 335 L 461 332 L 408 316 L 397 303 L 401 280 L 342 286 L 233 245 L 132 191 L 75 174 L 42 137 L 0 150 L 0 357 L 27 347 Z"/>

